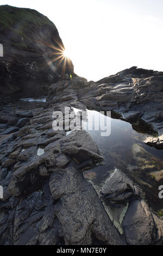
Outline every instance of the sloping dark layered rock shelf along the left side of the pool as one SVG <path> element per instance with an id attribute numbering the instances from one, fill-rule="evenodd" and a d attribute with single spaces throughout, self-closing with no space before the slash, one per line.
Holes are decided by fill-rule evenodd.
<path id="1" fill-rule="evenodd" d="M 34 115 L 5 144 L 2 163 L 14 162 L 1 168 L 1 244 L 125 244 L 78 168 L 79 161 L 102 159 L 97 145 L 86 131 L 53 131 L 53 109 L 60 105 Z M 45 153 L 38 156 L 39 145 Z"/>

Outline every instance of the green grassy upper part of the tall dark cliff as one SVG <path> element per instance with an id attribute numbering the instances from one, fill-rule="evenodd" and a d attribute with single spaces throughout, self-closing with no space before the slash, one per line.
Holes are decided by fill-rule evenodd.
<path id="1" fill-rule="evenodd" d="M 0 16 L 0 33 L 15 48 L 35 52 L 35 44 L 41 41 L 42 47 L 44 41 L 51 43 L 51 35 L 59 36 L 54 23 L 36 10 L 1 5 Z"/>

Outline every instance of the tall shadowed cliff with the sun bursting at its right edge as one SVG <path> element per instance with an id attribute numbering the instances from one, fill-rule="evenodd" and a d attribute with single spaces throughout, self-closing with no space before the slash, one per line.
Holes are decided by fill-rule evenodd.
<path id="1" fill-rule="evenodd" d="M 56 48 L 64 45 L 53 22 L 38 11 L 0 6 L 0 93 L 4 95 L 45 95 L 48 85 L 57 82 L 63 62 L 54 59 Z M 73 64 L 66 63 L 66 74 Z"/>

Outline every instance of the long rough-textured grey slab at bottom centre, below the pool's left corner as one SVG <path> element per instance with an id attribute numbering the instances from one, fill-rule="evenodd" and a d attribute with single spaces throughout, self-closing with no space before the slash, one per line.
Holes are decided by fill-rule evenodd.
<path id="1" fill-rule="evenodd" d="M 91 234 L 98 237 L 100 243 L 125 243 L 80 170 L 74 167 L 57 170 L 51 175 L 49 187 L 53 198 L 58 200 L 55 214 L 62 225 L 66 244 L 90 244 Z"/>

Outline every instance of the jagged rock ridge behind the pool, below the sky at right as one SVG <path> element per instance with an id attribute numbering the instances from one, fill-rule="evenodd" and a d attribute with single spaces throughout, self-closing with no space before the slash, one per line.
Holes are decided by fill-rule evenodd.
<path id="1" fill-rule="evenodd" d="M 161 136 L 163 132 L 162 82 L 163 72 L 138 69 L 134 66 L 114 76 L 92 82 L 85 89 L 85 93 L 82 90 L 79 91 L 80 101 L 90 109 L 116 112 L 119 114 L 119 117 L 116 114 L 117 118 L 129 121 L 133 127 L 138 119 L 146 121 L 152 126 L 147 127 L 148 131 L 144 132 L 154 137 L 157 133 Z M 135 126 L 134 129 L 139 131 L 140 126 L 145 126 L 145 123 Z M 159 141 L 158 144 L 160 144 Z"/>

